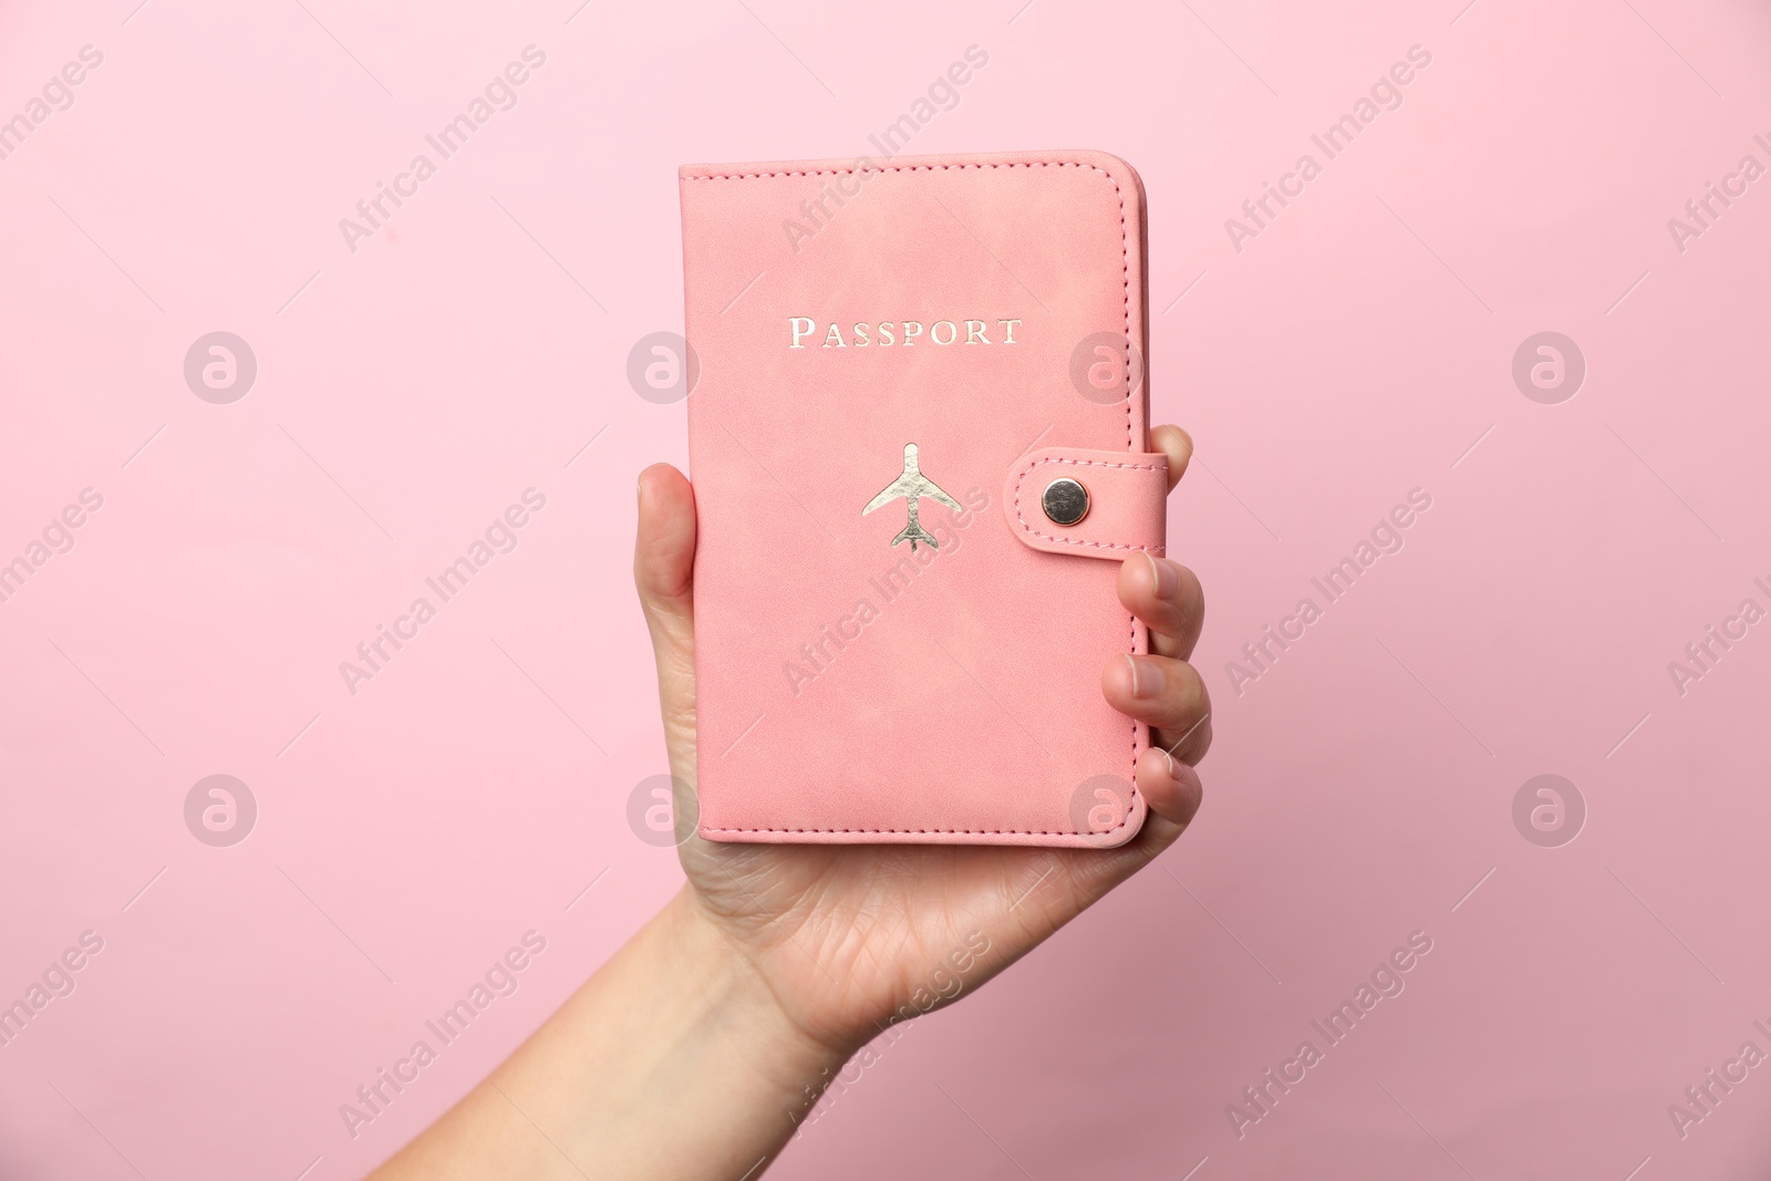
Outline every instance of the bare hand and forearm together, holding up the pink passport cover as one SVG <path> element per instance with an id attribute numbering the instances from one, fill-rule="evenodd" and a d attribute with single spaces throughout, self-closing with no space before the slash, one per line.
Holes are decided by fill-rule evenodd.
<path id="1" fill-rule="evenodd" d="M 1169 487 L 1192 441 L 1153 432 Z M 634 575 L 659 666 L 678 790 L 694 790 L 694 492 L 639 476 Z M 379 1181 L 646 1177 L 754 1181 L 843 1062 L 894 1013 L 976 988 L 1174 843 L 1199 807 L 1211 710 L 1187 664 L 1199 583 L 1137 556 L 1119 600 L 1151 655 L 1119 655 L 1102 692 L 1149 722 L 1144 829 L 1116 850 L 715 845 L 689 836 L 689 885 Z M 678 800 L 678 806 L 684 800 Z M 678 816 L 682 809 L 678 807 Z"/>

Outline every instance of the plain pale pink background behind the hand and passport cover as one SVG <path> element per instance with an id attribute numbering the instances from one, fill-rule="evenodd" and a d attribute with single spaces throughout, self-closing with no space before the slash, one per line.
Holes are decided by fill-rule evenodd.
<path id="1" fill-rule="evenodd" d="M 1668 675 L 1771 607 L 1771 181 L 1667 227 L 1771 165 L 1764 5 L 136 4 L 0 11 L 0 119 L 104 55 L 0 159 L 0 561 L 104 498 L 0 602 L 0 999 L 104 940 L 0 1048 L 0 1176 L 360 1176 L 677 887 L 625 820 L 662 770 L 632 482 L 684 455 L 625 365 L 680 328 L 675 168 L 868 152 L 969 44 L 910 151 L 1098 147 L 1149 191 L 1208 797 L 772 1176 L 1771 1163 L 1771 1068 L 1667 1114 L 1771 1052 L 1771 625 Z M 352 253 L 338 220 L 528 44 L 515 108 Z M 1415 44 L 1403 106 L 1238 251 L 1226 218 Z M 230 405 L 182 377 L 218 329 L 259 361 Z M 1589 365 L 1557 405 L 1511 375 L 1539 331 Z M 338 662 L 530 487 L 519 547 L 352 696 Z M 1238 694 L 1411 489 L 1406 547 Z M 211 774 L 259 802 L 232 848 L 184 825 Z M 1539 774 L 1587 804 L 1560 848 L 1512 822 Z M 338 1105 L 528 930 L 519 992 L 351 1139 Z M 1406 992 L 1238 1139 L 1226 1105 L 1411 931 Z"/>

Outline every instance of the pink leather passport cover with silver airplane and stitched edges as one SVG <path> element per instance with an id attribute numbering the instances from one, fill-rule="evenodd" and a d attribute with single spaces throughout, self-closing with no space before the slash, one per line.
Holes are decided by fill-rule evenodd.
<path id="1" fill-rule="evenodd" d="M 1137 174 L 1063 151 L 680 188 L 701 836 L 1128 841 L 1148 735 L 1100 675 L 1146 650 L 1114 583 L 1164 552 L 1167 492 Z"/>

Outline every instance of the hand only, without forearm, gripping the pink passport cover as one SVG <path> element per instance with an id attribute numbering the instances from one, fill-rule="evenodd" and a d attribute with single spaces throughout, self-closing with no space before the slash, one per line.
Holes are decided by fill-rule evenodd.
<path id="1" fill-rule="evenodd" d="M 1158 427 L 1169 489 L 1192 439 Z M 666 464 L 639 476 L 634 581 L 657 657 L 671 776 L 694 790 L 694 492 Z M 988 953 L 963 976 L 971 990 L 1031 951 L 1107 891 L 1169 848 L 1199 809 L 1192 765 L 1211 745 L 1211 706 L 1187 659 L 1204 597 L 1190 570 L 1139 554 L 1119 568 L 1119 602 L 1142 620 L 1151 655 L 1116 655 L 1102 692 L 1153 728 L 1137 788 L 1142 830 L 1116 850 L 921 845 L 723 845 L 689 836 L 678 905 L 723 938 L 788 1025 L 845 1059 L 912 999 L 932 1007 L 930 981 L 955 977 L 949 956 L 976 931 Z M 677 800 L 684 814 L 685 800 Z M 692 813 L 691 813 L 692 814 Z M 944 992 L 944 990 L 942 990 Z M 947 997 L 951 999 L 951 997 Z"/>

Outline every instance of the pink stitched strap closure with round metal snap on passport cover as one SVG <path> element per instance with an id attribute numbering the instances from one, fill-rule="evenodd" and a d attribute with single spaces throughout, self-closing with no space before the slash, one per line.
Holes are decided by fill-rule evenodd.
<path id="1" fill-rule="evenodd" d="M 1073 480 L 1087 492 L 1087 510 L 1075 524 L 1063 521 L 1073 519 L 1082 498 L 1070 487 L 1052 489 L 1061 480 Z M 1009 469 L 1002 496 L 1009 529 L 1032 549 L 1118 561 L 1141 551 L 1164 554 L 1167 499 L 1167 455 L 1077 448 L 1022 455 Z"/>

